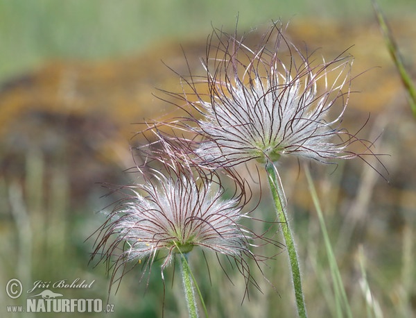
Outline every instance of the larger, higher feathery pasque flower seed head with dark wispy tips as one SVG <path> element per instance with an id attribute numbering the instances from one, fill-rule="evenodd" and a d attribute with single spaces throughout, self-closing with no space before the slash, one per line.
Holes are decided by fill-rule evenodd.
<path id="1" fill-rule="evenodd" d="M 250 49 L 236 35 L 214 31 L 203 62 L 206 75 L 182 76 L 193 94 L 172 95 L 197 111 L 189 112 L 193 124 L 185 129 L 202 137 L 192 140 L 198 163 L 230 167 L 251 159 L 275 162 L 288 154 L 323 162 L 359 156 L 347 146 L 365 142 L 339 127 L 352 58 L 312 58 L 282 32 L 273 24 Z M 204 83 L 208 94 L 200 87 Z M 336 115 L 329 119 L 329 113 Z"/>

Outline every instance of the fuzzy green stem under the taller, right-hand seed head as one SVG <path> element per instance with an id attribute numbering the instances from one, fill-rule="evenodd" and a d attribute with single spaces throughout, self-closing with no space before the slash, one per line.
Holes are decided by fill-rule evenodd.
<path id="1" fill-rule="evenodd" d="M 299 260 L 297 258 L 295 242 L 293 241 L 291 226 L 288 222 L 284 190 L 281 185 L 277 169 L 272 162 L 266 162 L 266 171 L 268 173 L 270 190 L 272 192 L 273 200 L 275 201 L 277 217 L 279 218 L 286 248 L 288 249 L 289 261 L 291 263 L 293 287 L 295 289 L 297 313 L 299 317 L 304 318 L 307 315 L 304 302 L 304 294 L 302 290 L 302 280 L 300 278 Z"/>

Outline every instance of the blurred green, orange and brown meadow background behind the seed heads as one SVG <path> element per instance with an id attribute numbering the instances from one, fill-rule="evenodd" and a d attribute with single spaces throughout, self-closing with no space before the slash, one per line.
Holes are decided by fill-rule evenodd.
<path id="1" fill-rule="evenodd" d="M 416 3 L 392 2 L 379 1 L 415 79 Z M 133 165 L 130 145 L 140 142 L 134 123 L 173 110 L 153 95 L 155 87 L 180 88 L 164 63 L 186 74 L 182 46 L 191 69 L 202 72 L 199 58 L 212 26 L 232 32 L 237 15 L 239 31 L 254 35 L 272 19 L 290 21 L 289 39 L 317 49 L 326 60 L 351 47 L 353 74 L 360 75 L 352 83 L 343 126 L 355 132 L 368 120 L 361 137 L 376 140 L 376 153 L 388 154 L 381 157 L 388 173 L 368 160 L 389 182 L 358 159 L 337 167 L 311 163 L 310 169 L 352 317 L 416 315 L 416 119 L 370 1 L 0 0 L 2 317 L 31 317 L 4 314 L 7 305 L 26 301 L 26 296 L 8 298 L 4 287 L 10 278 L 19 278 L 26 290 L 39 280 L 95 280 L 87 290 L 55 291 L 66 298 L 107 300 L 105 266 L 88 265 L 94 240 L 85 241 L 104 219 L 99 211 L 117 199 L 102 197 L 107 190 L 100 183 L 123 185 L 139 178 L 124 171 Z M 336 310 L 331 264 L 302 165 L 288 158 L 279 169 L 309 316 L 347 317 Z M 256 216 L 272 221 L 266 190 Z M 270 249 L 263 246 L 259 253 L 281 252 Z M 250 290 L 242 304 L 244 281 L 236 269 L 227 268 L 226 275 L 207 253 L 208 271 L 201 255 L 191 253 L 190 262 L 210 317 L 294 317 L 286 253 L 263 267 L 276 290 L 254 272 L 262 293 Z M 125 276 L 110 296 L 111 317 L 160 317 L 158 265 L 147 288 L 138 283 L 139 267 Z M 165 317 L 186 317 L 181 282 L 173 272 L 172 267 L 165 273 Z M 74 315 L 83 317 L 54 317 Z"/>

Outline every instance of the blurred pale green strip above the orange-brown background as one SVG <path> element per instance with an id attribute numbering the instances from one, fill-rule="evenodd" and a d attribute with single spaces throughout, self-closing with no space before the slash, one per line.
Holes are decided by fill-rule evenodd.
<path id="1" fill-rule="evenodd" d="M 406 19 L 413 0 L 380 0 L 389 17 Z M 373 19 L 370 1 L 110 1 L 1 0 L 0 80 L 51 58 L 114 58 L 162 40 L 205 37 L 211 24 L 241 30 L 281 17 Z M 312 20 L 313 23 L 313 20 Z"/>

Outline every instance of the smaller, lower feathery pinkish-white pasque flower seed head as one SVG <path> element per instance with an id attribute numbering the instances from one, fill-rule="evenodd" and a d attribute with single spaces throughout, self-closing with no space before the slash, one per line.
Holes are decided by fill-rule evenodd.
<path id="1" fill-rule="evenodd" d="M 224 199 L 225 189 L 213 171 L 191 169 L 166 142 L 160 142 L 163 149 L 149 152 L 146 164 L 138 167 L 143 182 L 122 188 L 130 193 L 115 204 L 98 229 L 93 257 L 113 267 L 114 282 L 116 272 L 123 269 L 124 274 L 129 261 L 152 265 L 162 258 L 163 271 L 175 255 L 200 246 L 233 258 L 250 278 L 243 257 L 256 258 L 249 249 L 253 233 L 239 225 L 241 218 L 248 217 L 241 212 L 248 192 L 236 184 L 234 195 Z"/>

